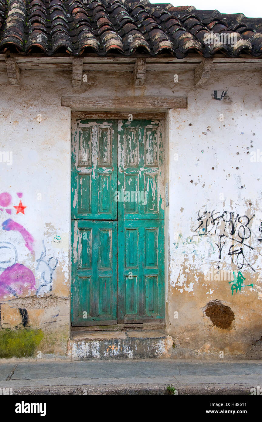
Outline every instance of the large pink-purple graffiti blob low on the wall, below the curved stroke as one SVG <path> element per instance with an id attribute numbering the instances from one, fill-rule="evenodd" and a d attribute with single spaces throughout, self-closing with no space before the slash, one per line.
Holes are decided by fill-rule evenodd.
<path id="1" fill-rule="evenodd" d="M 24 291 L 35 288 L 35 276 L 23 264 L 14 264 L 0 275 L 0 295 L 22 295 Z"/>

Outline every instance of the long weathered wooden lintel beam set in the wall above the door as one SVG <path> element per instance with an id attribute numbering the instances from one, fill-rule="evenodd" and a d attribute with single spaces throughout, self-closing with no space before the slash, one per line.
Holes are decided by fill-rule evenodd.
<path id="1" fill-rule="evenodd" d="M 62 95 L 61 106 L 70 107 L 72 111 L 167 111 L 170 108 L 186 108 L 187 97 L 159 97 L 130 95 L 122 97 L 83 97 L 81 95 Z"/>

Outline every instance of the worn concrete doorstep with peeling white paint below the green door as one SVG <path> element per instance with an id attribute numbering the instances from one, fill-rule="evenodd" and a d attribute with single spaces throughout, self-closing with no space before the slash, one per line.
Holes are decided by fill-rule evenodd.
<path id="1" fill-rule="evenodd" d="M 163 330 L 75 331 L 68 342 L 72 359 L 169 358 L 173 338 Z"/>

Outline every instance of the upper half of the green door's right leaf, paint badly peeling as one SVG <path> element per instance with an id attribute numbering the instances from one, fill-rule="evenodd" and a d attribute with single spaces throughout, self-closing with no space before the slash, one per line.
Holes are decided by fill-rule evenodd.
<path id="1" fill-rule="evenodd" d="M 118 219 L 164 218 L 161 126 L 159 121 L 119 120 Z"/>

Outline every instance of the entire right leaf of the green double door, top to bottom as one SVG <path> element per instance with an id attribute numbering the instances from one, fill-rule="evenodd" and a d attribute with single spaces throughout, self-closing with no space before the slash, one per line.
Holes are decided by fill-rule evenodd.
<path id="1" fill-rule="evenodd" d="M 165 315 L 161 125 L 119 121 L 118 130 L 118 321 L 159 322 Z"/>

